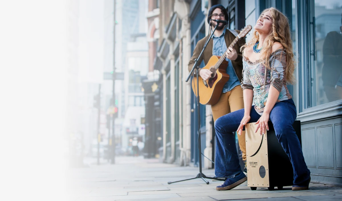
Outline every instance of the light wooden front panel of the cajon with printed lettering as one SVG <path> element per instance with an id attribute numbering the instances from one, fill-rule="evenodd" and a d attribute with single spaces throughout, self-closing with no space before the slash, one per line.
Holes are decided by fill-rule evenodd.
<path id="1" fill-rule="evenodd" d="M 247 175 L 249 187 L 269 187 L 269 169 L 267 156 L 267 134 L 260 135 L 255 123 L 245 125 L 246 130 L 246 155 L 247 155 Z M 267 131 L 266 131 L 267 132 Z M 263 171 L 263 167 L 264 170 Z M 263 176 L 263 172 L 265 174 Z"/>

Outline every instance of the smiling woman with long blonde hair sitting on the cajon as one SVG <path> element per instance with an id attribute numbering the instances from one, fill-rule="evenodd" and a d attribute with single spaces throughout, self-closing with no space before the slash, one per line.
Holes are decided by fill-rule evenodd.
<path id="1" fill-rule="evenodd" d="M 269 8 L 261 13 L 254 29 L 253 38 L 241 47 L 244 56 L 244 109 L 220 117 L 215 122 L 215 176 L 227 178 L 216 190 L 229 190 L 247 180 L 241 171 L 233 132 L 240 135 L 244 125 L 257 122 L 255 132 L 260 128 L 262 135 L 268 130 L 268 121 L 273 123 L 278 141 L 292 163 L 292 190 L 306 190 L 311 179 L 310 170 L 292 127 L 297 111 L 286 86 L 295 82 L 289 22 L 277 9 Z"/>

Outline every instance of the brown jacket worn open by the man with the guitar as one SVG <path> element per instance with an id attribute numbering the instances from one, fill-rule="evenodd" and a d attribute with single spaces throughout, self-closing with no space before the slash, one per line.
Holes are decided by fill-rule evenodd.
<path id="1" fill-rule="evenodd" d="M 236 32 L 240 33 L 239 30 L 235 30 Z M 202 51 L 202 48 L 204 46 L 204 44 L 206 43 L 206 39 L 207 36 L 202 38 L 201 40 L 199 40 L 196 44 L 195 50 L 193 52 L 193 56 L 190 58 L 189 64 L 188 64 L 188 70 L 190 72 L 190 70 L 192 69 L 193 65 L 195 64 L 195 59 L 199 56 L 199 54 Z M 226 30 L 226 33 L 224 35 L 224 41 L 226 42 L 226 46 L 228 48 L 228 46 L 233 42 L 233 40 L 235 39 L 234 34 L 232 34 L 232 32 L 230 32 L 229 30 Z M 233 68 L 235 70 L 235 73 L 241 83 L 242 80 L 242 53 L 240 52 L 240 46 L 246 43 L 246 39 L 245 38 L 241 38 L 240 41 L 238 41 L 235 46 L 234 49 L 237 52 L 237 58 L 235 59 L 235 61 L 232 61 L 233 64 Z M 207 48 L 204 50 L 201 58 L 199 58 L 199 63 L 202 62 L 202 60 L 204 60 L 204 64 L 207 65 L 210 57 L 213 55 L 213 39 L 211 38 Z"/>

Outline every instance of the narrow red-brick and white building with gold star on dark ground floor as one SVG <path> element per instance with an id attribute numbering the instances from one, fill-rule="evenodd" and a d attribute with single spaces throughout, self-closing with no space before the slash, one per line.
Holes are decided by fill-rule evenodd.
<path id="1" fill-rule="evenodd" d="M 160 99 L 160 69 L 154 68 L 155 62 L 161 62 L 157 57 L 159 41 L 159 0 L 148 1 L 147 42 L 148 42 L 148 75 L 143 81 L 145 95 L 145 149 L 146 158 L 160 157 L 159 148 L 162 143 L 161 134 L 161 99 Z"/>

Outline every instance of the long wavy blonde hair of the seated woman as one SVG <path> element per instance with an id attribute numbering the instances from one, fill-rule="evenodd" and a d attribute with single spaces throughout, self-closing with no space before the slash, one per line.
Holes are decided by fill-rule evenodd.
<path id="1" fill-rule="evenodd" d="M 275 42 L 279 42 L 286 50 L 286 68 L 284 77 L 287 83 L 295 84 L 296 78 L 294 76 L 294 68 L 296 61 L 292 50 L 289 19 L 279 10 L 273 7 L 265 9 L 260 16 L 267 11 L 271 12 L 272 30 L 270 30 L 269 35 L 264 41 L 263 48 L 261 50 L 260 61 L 266 68 L 271 69 L 269 57 L 272 54 L 272 45 Z M 241 46 L 240 51 L 243 52 L 246 47 L 253 47 L 253 45 L 258 41 L 259 34 L 257 31 L 254 31 L 252 39 L 245 45 Z"/>

